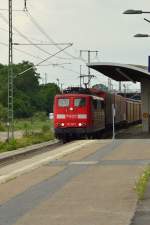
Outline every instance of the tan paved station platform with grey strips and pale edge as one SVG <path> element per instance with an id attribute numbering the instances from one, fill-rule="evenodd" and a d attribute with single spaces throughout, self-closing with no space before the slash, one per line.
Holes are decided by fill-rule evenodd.
<path id="1" fill-rule="evenodd" d="M 150 139 L 122 135 L 80 140 L 8 165 L 0 179 L 21 172 L 0 184 L 0 225 L 129 225 L 135 184 L 149 164 Z"/>

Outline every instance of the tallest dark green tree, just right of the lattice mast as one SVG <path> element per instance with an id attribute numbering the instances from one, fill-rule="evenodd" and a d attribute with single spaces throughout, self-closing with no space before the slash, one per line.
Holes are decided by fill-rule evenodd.
<path id="1" fill-rule="evenodd" d="M 27 70 L 24 74 L 21 72 Z M 34 65 L 30 62 L 22 62 L 14 65 L 14 111 L 15 116 L 31 117 L 36 109 L 36 98 L 38 96 L 39 74 L 36 73 Z"/>

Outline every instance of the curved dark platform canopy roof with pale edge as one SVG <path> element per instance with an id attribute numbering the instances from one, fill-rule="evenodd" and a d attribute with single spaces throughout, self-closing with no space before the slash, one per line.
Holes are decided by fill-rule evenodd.
<path id="1" fill-rule="evenodd" d="M 87 66 L 116 81 L 142 82 L 150 80 L 150 73 L 146 66 L 107 62 L 90 63 Z"/>

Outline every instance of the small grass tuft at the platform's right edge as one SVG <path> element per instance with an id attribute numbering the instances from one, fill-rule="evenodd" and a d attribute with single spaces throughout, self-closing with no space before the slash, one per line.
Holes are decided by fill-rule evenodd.
<path id="1" fill-rule="evenodd" d="M 144 199 L 144 194 L 149 180 L 150 180 L 150 166 L 144 170 L 143 174 L 140 176 L 135 186 L 135 190 L 137 192 L 139 200 Z"/>

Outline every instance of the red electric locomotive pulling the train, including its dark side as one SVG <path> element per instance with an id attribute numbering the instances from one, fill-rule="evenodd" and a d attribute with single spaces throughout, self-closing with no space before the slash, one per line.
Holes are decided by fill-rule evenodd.
<path id="1" fill-rule="evenodd" d="M 65 141 L 88 136 L 105 128 L 104 99 L 84 89 L 67 89 L 54 100 L 55 136 Z"/>

